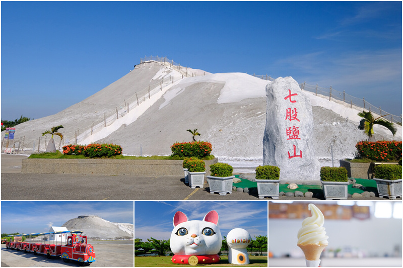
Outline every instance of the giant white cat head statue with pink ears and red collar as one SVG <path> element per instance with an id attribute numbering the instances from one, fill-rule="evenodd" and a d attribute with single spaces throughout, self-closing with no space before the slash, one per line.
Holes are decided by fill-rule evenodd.
<path id="1" fill-rule="evenodd" d="M 172 262 L 191 265 L 218 262 L 217 253 L 222 245 L 218 221 L 215 210 L 207 213 L 203 221 L 189 221 L 183 212 L 176 212 L 170 240 Z"/>

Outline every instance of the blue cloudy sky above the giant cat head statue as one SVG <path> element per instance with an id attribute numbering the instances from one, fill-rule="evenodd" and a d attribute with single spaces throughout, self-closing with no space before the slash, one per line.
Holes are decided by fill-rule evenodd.
<path id="1" fill-rule="evenodd" d="M 267 202 L 135 201 L 135 238 L 143 241 L 150 237 L 168 240 L 177 211 L 182 211 L 189 220 L 203 220 L 212 210 L 218 213 L 222 236 L 227 236 L 234 228 L 247 230 L 252 239 L 257 235 L 267 235 Z"/>

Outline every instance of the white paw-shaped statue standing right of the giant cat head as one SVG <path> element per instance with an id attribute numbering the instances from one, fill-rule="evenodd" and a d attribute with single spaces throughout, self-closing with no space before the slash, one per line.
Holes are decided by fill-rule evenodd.
<path id="1" fill-rule="evenodd" d="M 248 231 L 241 228 L 232 229 L 227 235 L 228 262 L 232 264 L 249 264 L 246 247 L 251 238 Z"/>

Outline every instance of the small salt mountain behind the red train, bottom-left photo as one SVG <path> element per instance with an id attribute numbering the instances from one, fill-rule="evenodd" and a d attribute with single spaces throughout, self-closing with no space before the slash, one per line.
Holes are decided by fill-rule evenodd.
<path id="1" fill-rule="evenodd" d="M 83 231 L 89 239 L 133 239 L 133 224 L 114 223 L 98 216 L 78 216 L 65 222 L 62 227 L 70 231 Z"/>

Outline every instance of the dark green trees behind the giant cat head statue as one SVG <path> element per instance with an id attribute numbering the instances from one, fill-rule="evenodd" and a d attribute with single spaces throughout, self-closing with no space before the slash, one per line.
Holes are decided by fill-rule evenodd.
<path id="1" fill-rule="evenodd" d="M 135 239 L 135 255 L 145 255 L 147 253 L 157 254 L 159 256 L 165 256 L 168 251 L 171 251 L 169 245 L 170 239 L 168 240 L 158 240 L 153 237 L 148 238 L 147 241 L 142 241 L 140 238 Z M 263 251 L 267 251 L 267 235 L 255 236 L 255 240 L 252 239 L 248 247 L 246 248 L 249 252 L 256 251 L 260 252 L 262 255 Z M 222 246 L 220 253 L 228 254 L 228 244 L 227 237 L 224 236 L 222 240 Z M 220 254 L 219 253 L 219 254 Z"/>

